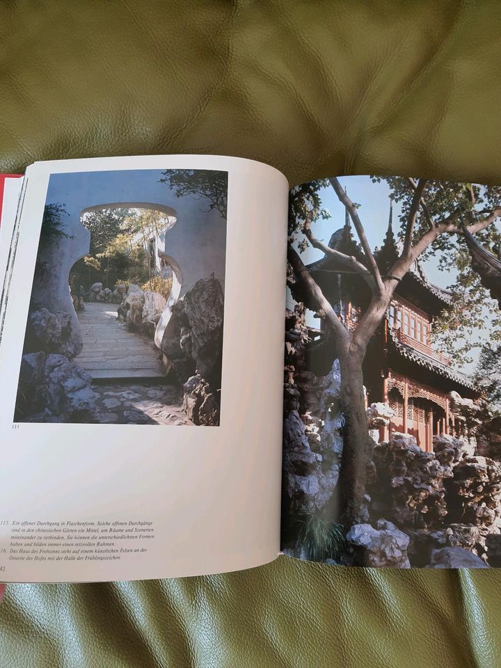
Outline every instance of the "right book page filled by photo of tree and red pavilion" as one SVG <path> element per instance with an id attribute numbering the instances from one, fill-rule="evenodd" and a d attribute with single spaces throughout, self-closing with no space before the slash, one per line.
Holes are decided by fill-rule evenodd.
<path id="1" fill-rule="evenodd" d="M 500 216 L 469 182 L 290 191 L 285 554 L 501 566 Z"/>

